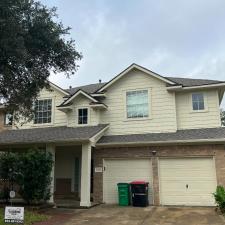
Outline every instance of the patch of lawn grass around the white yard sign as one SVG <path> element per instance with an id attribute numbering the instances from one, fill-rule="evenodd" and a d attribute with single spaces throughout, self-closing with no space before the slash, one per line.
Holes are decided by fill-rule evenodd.
<path id="1" fill-rule="evenodd" d="M 34 222 L 42 222 L 49 219 L 49 216 L 37 213 L 35 211 L 28 211 L 28 209 L 24 209 L 25 215 L 24 215 L 24 225 L 32 225 Z M 4 222 L 4 214 L 5 209 L 0 209 L 0 225 L 7 225 L 12 223 L 5 223 Z M 15 223 L 13 223 L 15 225 Z"/>

